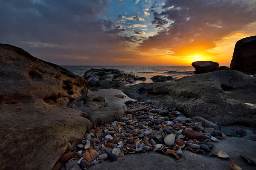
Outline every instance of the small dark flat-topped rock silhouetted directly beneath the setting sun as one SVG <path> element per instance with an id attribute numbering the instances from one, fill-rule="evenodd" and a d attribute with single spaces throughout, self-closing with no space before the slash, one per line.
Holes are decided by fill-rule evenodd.
<path id="1" fill-rule="evenodd" d="M 218 71 L 218 62 L 195 61 L 195 62 L 192 62 L 192 66 L 195 68 L 195 71 L 194 71 L 195 74 Z"/>

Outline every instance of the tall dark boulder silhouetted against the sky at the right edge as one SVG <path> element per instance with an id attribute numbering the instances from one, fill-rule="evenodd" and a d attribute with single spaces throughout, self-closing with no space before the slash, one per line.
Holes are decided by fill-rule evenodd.
<path id="1" fill-rule="evenodd" d="M 230 69 L 256 74 L 256 36 L 236 42 Z"/>

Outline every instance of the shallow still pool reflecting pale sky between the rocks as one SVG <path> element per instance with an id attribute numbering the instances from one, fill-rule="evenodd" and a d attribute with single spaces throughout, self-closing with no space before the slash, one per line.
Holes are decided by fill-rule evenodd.
<path id="1" fill-rule="evenodd" d="M 125 105 L 125 102 L 128 100 L 134 100 L 126 96 L 124 99 L 120 99 L 116 96 L 115 94 L 122 94 L 125 95 L 121 90 L 118 89 L 100 89 L 99 91 L 88 91 L 88 96 L 89 95 L 97 95 L 97 96 L 102 96 L 105 98 L 107 103 L 113 104 L 113 105 Z"/>

